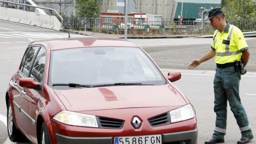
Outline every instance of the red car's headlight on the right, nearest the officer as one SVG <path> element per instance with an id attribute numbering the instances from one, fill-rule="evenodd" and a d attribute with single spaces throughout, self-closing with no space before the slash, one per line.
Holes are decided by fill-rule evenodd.
<path id="1" fill-rule="evenodd" d="M 188 120 L 191 118 L 194 118 L 194 110 L 191 106 L 191 104 L 187 104 L 185 106 L 182 106 L 178 109 L 175 109 L 173 111 L 170 111 L 171 115 L 171 122 L 180 122 L 183 120 Z"/>

